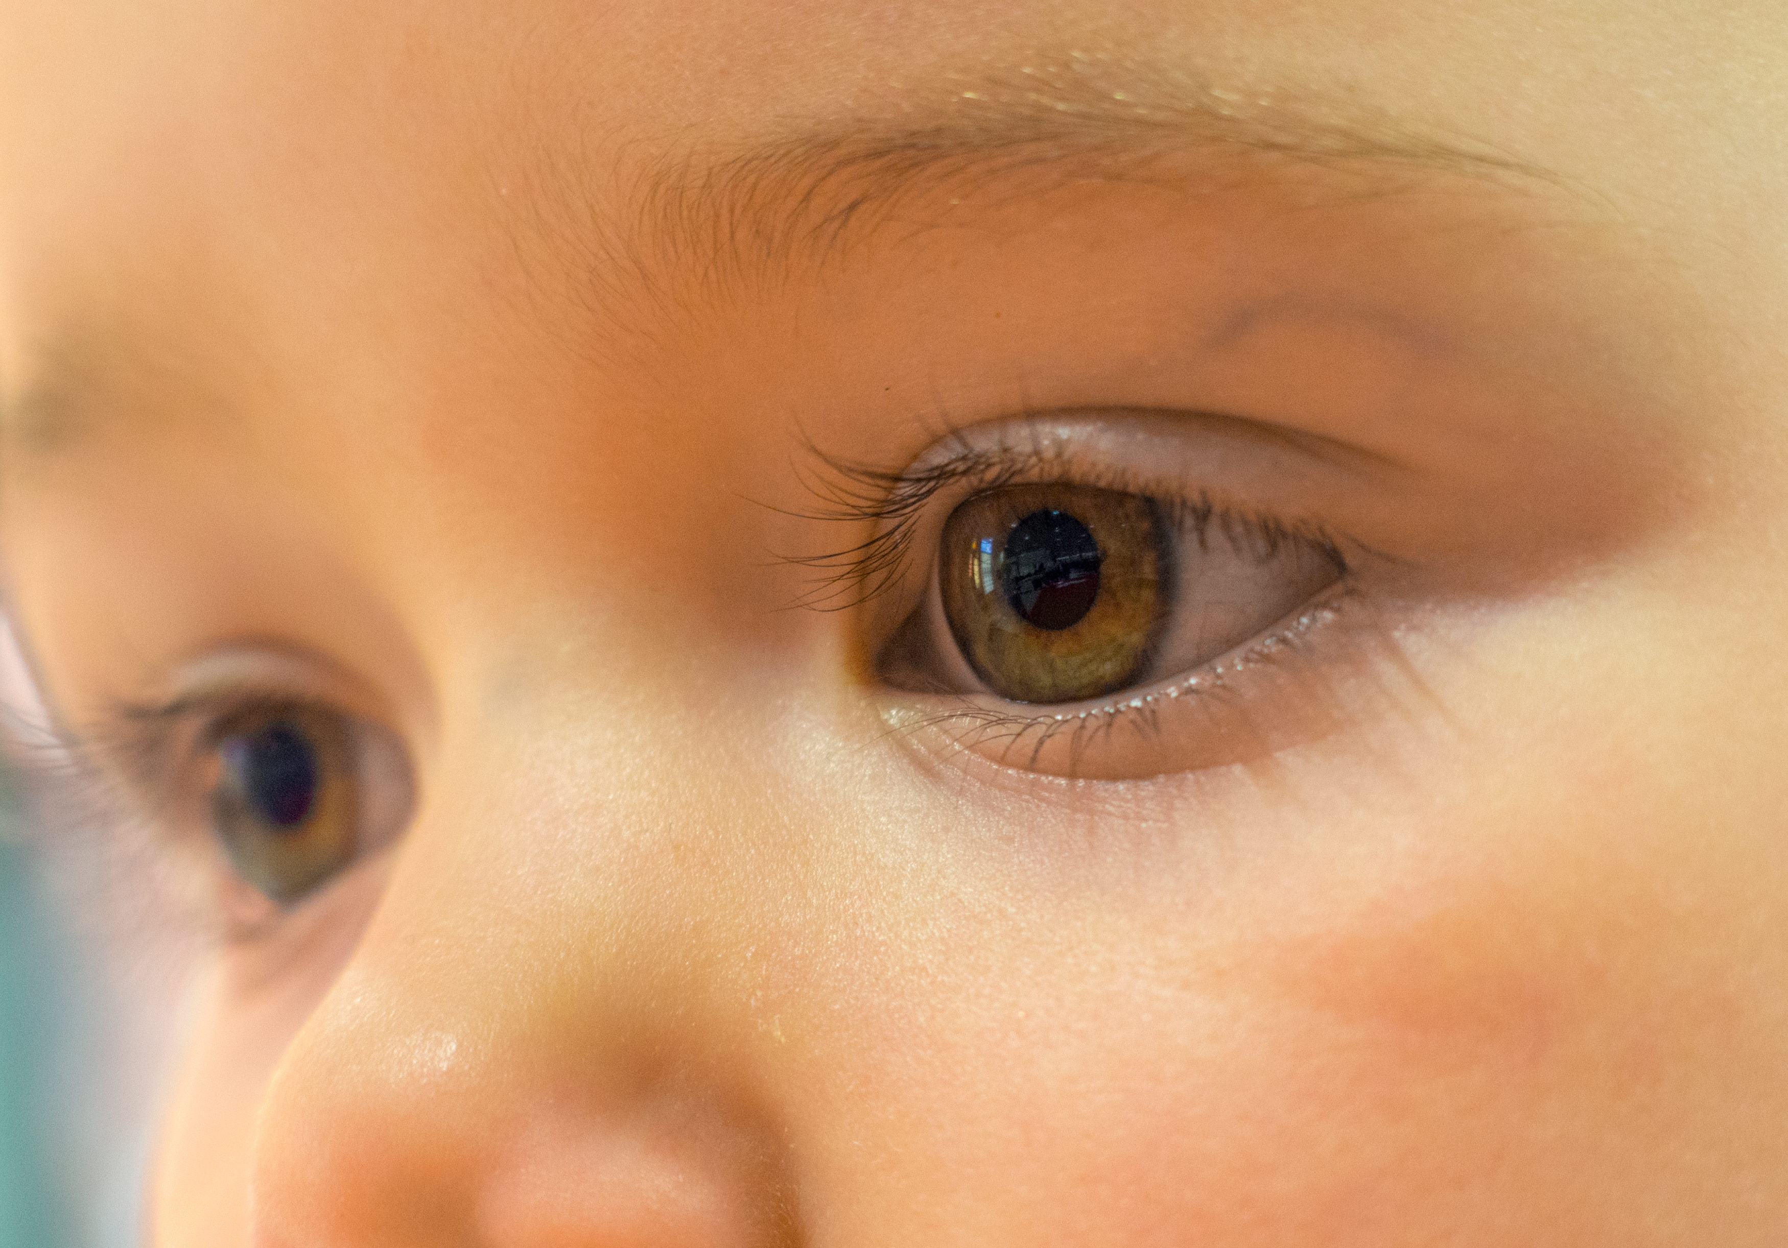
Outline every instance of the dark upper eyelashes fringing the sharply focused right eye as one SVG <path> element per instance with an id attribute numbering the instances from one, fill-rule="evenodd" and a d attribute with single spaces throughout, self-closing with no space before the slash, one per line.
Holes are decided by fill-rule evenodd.
<path id="1" fill-rule="evenodd" d="M 962 443 L 960 433 L 953 431 L 948 436 Z M 831 456 L 812 442 L 806 443 L 806 452 L 819 461 L 819 470 L 803 472 L 801 483 L 821 506 L 797 515 L 808 520 L 874 524 L 874 533 L 867 540 L 842 551 L 781 556 L 785 563 L 815 572 L 814 586 L 796 601 L 796 606 L 810 610 L 851 610 L 892 590 L 907 570 L 919 517 L 942 490 L 964 483 L 974 493 L 998 490 L 1019 481 L 1048 479 L 1044 474 L 1051 467 L 1067 470 L 1069 465 L 1075 485 L 1153 497 L 1168 511 L 1169 522 L 1189 527 L 1200 545 L 1216 531 L 1237 551 L 1252 544 L 1252 549 L 1266 560 L 1286 542 L 1305 542 L 1334 560 L 1343 576 L 1350 570 L 1343 538 L 1325 526 L 1223 508 L 1205 490 L 1187 495 L 1171 486 L 1162 488 L 1159 481 L 1144 481 L 1109 467 L 1075 465 L 1073 456 L 1060 447 L 962 445 L 960 454 L 917 474 L 910 468 L 889 470 Z M 1359 544 L 1346 545 L 1359 547 Z"/>

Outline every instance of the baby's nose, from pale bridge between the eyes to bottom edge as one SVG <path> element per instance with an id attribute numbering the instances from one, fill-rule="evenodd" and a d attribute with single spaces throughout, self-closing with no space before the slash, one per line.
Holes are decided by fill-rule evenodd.
<path id="1" fill-rule="evenodd" d="M 256 1243 L 787 1241 L 749 1016 L 760 901 L 787 919 L 797 892 L 765 862 L 799 855 L 746 835 L 762 792 L 681 783 L 615 737 L 443 758 L 268 1087 Z"/>

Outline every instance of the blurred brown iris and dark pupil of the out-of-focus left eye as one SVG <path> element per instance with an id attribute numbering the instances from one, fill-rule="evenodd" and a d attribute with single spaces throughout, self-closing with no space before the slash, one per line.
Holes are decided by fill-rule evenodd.
<path id="1" fill-rule="evenodd" d="M 213 830 L 236 873 L 272 901 L 318 889 L 361 851 L 354 728 L 313 706 L 263 708 L 215 729 Z"/>

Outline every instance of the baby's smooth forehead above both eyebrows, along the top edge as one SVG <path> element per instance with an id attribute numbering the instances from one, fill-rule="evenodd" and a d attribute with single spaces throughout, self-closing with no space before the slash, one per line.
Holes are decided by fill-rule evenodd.
<path id="1" fill-rule="evenodd" d="M 150 359 L 164 327 L 240 361 L 229 340 L 265 320 L 302 338 L 345 286 L 365 302 L 368 263 L 426 302 L 429 274 L 451 282 L 443 238 L 513 252 L 540 204 L 610 229 L 642 163 L 989 113 L 1191 109 L 1470 148 L 1688 245 L 1781 247 L 1752 238 L 1783 166 L 1759 86 L 1788 14 L 1768 0 L 13 0 L 0 20 L 7 375 L 104 358 L 114 329 Z"/>

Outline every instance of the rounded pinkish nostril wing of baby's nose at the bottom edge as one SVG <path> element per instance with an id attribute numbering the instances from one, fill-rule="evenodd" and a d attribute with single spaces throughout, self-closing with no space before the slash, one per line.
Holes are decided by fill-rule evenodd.
<path id="1" fill-rule="evenodd" d="M 479 1182 L 490 1248 L 785 1248 L 772 1143 L 712 1109 L 531 1121 Z"/>

